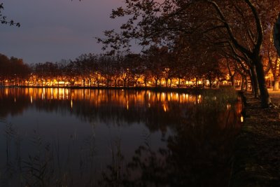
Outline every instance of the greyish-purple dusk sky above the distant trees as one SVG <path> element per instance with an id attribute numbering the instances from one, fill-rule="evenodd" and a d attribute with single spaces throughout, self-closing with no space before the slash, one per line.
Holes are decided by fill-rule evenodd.
<path id="1" fill-rule="evenodd" d="M 31 64 L 74 59 L 102 53 L 94 37 L 116 29 L 124 20 L 111 20 L 111 10 L 124 0 L 3 0 L 3 15 L 21 27 L 0 25 L 0 53 Z"/>

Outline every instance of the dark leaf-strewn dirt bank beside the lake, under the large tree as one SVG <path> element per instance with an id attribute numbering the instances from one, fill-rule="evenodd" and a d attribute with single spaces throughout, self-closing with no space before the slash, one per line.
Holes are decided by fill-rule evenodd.
<path id="1" fill-rule="evenodd" d="M 280 92 L 270 91 L 280 104 Z M 244 93 L 244 125 L 237 138 L 230 186 L 280 186 L 280 108 L 262 109 L 259 99 Z"/>

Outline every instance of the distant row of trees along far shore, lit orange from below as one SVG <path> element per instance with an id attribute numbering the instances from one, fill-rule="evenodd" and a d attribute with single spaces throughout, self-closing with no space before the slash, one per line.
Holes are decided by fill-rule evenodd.
<path id="1" fill-rule="evenodd" d="M 195 63 L 195 62 L 194 62 Z M 181 87 L 208 81 L 210 87 L 226 80 L 221 63 L 186 63 L 166 47 L 152 46 L 142 54 L 83 54 L 75 60 L 25 64 L 21 59 L 0 55 L 1 85 L 79 85 L 83 87 L 165 86 Z M 193 83 L 195 81 L 195 83 Z"/>

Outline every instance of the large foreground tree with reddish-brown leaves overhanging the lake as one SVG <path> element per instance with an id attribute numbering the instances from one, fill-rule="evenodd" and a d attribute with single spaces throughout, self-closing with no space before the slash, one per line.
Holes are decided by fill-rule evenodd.
<path id="1" fill-rule="evenodd" d="M 111 15 L 111 18 L 129 16 L 121 25 L 121 32 L 106 31 L 107 38 L 99 41 L 105 48 L 118 50 L 129 47 L 131 39 L 138 39 L 143 46 L 151 43 L 172 46 L 183 35 L 189 39 L 200 36 L 201 41 L 209 43 L 205 50 L 211 46 L 232 48 L 232 53 L 251 68 L 262 106 L 268 107 L 271 101 L 261 51 L 264 36 L 279 10 L 278 0 L 128 0 L 125 7 L 113 10 Z"/>

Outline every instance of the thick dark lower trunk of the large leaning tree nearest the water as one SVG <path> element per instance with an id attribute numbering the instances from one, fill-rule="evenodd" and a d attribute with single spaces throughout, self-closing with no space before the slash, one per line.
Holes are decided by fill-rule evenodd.
<path id="1" fill-rule="evenodd" d="M 258 78 L 258 87 L 260 88 L 260 100 L 262 108 L 269 107 L 271 100 L 268 94 L 267 85 L 265 83 L 265 71 L 263 70 L 262 57 L 256 58 L 255 62 L 255 71 Z"/>

